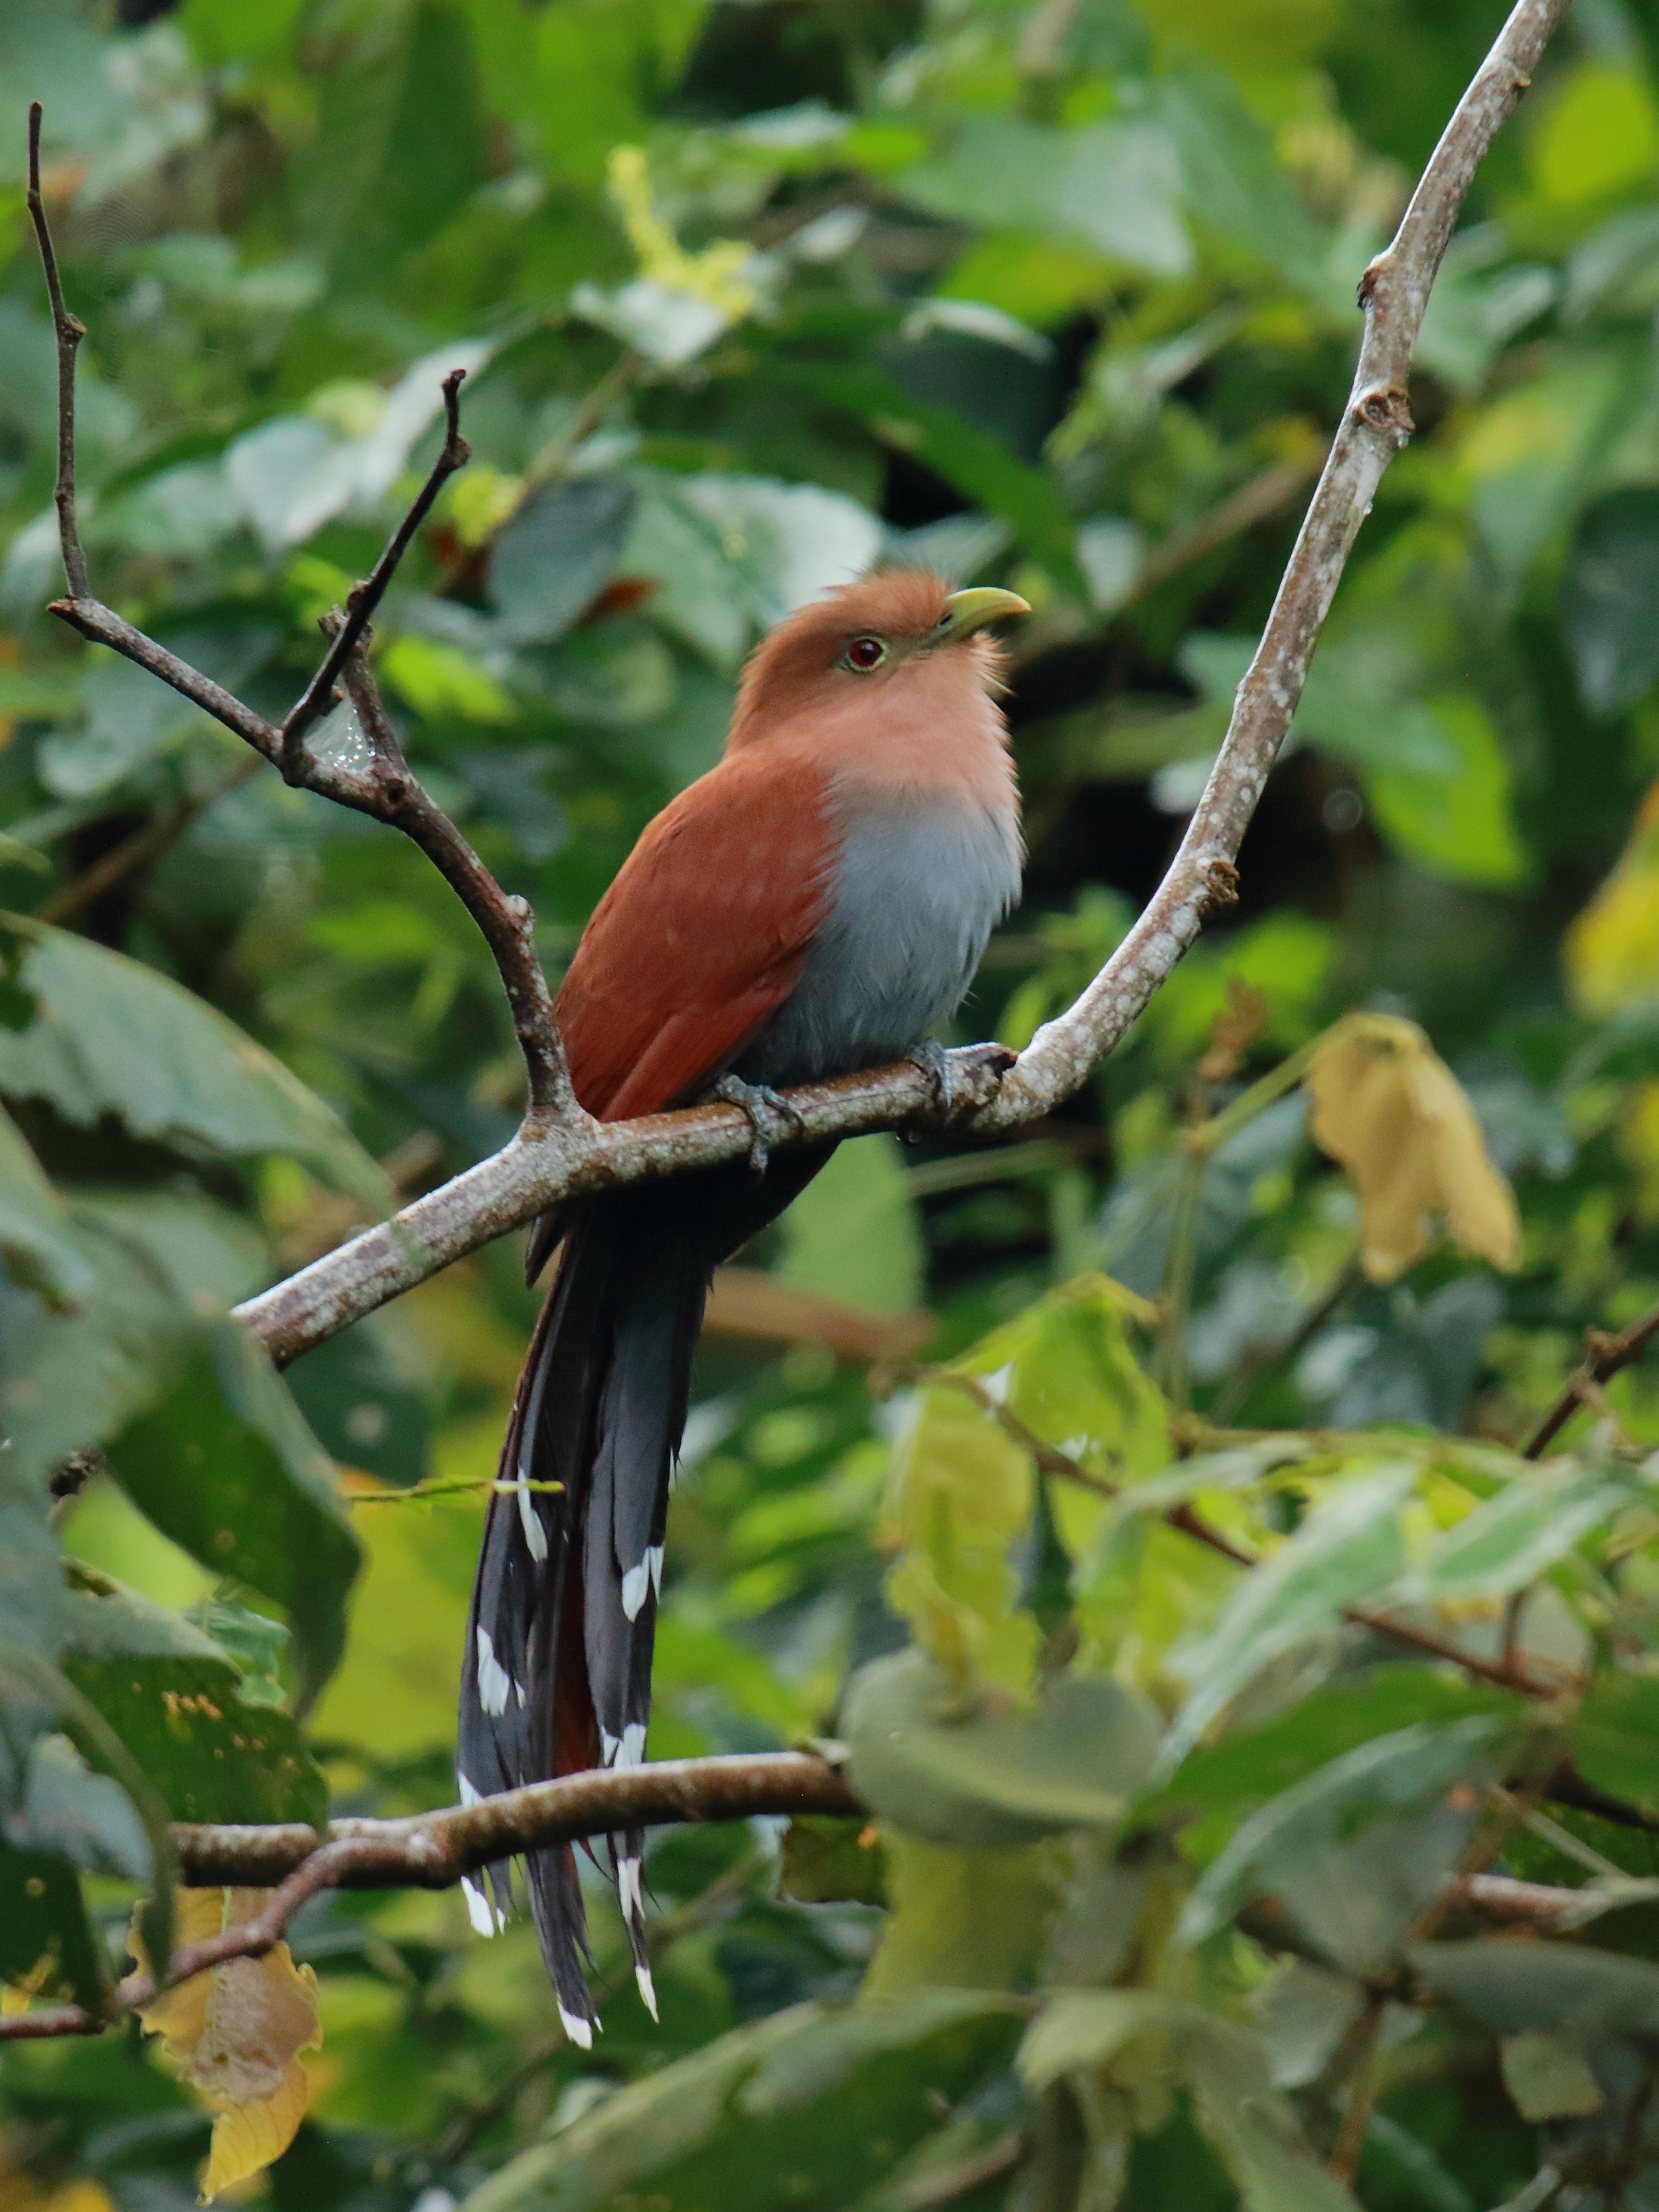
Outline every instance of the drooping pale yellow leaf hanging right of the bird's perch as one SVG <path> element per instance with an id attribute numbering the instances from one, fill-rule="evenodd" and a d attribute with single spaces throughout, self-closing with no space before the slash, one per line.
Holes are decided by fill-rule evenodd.
<path id="1" fill-rule="evenodd" d="M 1360 1261 L 1391 1283 L 1444 1219 L 1493 1267 L 1520 1263 L 1515 1192 L 1493 1166 L 1475 1108 L 1416 1022 L 1347 1013 L 1307 1066 L 1312 1130 L 1360 1194 Z"/>

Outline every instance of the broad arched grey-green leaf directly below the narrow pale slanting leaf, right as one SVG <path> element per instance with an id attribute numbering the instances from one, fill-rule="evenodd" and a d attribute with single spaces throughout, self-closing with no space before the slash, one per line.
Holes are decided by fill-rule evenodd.
<path id="1" fill-rule="evenodd" d="M 1416 1723 L 1356 1745 L 1245 1818 L 1181 1913 L 1197 1944 L 1263 1893 L 1332 1958 L 1376 1969 L 1429 1902 L 1473 1814 L 1449 1807 L 1458 1783 L 1486 1781 L 1504 1741 L 1493 1717 Z"/>

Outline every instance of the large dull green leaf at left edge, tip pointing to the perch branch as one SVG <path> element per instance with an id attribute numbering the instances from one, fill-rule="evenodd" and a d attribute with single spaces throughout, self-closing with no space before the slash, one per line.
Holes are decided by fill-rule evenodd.
<path id="1" fill-rule="evenodd" d="M 86 1128 L 230 1159 L 288 1152 L 323 1181 L 389 1203 L 385 1172 L 338 1115 L 221 1013 L 155 969 L 66 929 L 0 918 L 38 1013 L 0 1029 L 0 1093 L 49 1099 Z"/>

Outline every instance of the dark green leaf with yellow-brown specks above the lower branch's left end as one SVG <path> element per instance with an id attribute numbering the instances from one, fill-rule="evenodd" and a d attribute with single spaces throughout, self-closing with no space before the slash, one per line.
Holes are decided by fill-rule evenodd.
<path id="1" fill-rule="evenodd" d="M 184 1615 L 73 1571 L 64 1674 L 150 1776 L 175 1820 L 327 1818 L 290 1714 L 246 1703 L 234 1663 Z"/>

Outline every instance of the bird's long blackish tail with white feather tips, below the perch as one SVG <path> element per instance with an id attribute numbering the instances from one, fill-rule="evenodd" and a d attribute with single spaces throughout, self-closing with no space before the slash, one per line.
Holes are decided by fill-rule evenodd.
<path id="1" fill-rule="evenodd" d="M 668 1486 L 708 1283 L 827 1157 L 619 1190 L 571 1225 L 502 1449 L 500 1480 L 515 1489 L 495 1491 L 484 1522 L 460 1681 L 462 1803 L 644 1759 Z M 641 1847 L 637 1832 L 611 1838 L 655 2013 Z M 560 2017 L 586 2046 L 597 2013 L 575 1854 L 531 1851 L 524 1871 Z M 489 1867 L 487 1882 L 469 1882 L 467 1902 L 493 1933 L 511 1909 L 509 1867 Z"/>

